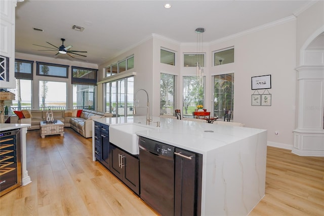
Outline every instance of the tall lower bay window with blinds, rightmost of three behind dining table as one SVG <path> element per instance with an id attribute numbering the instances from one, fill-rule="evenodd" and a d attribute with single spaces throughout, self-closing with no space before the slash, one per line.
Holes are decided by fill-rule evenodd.
<path id="1" fill-rule="evenodd" d="M 234 74 L 213 76 L 212 86 L 214 116 L 224 118 L 225 110 L 233 111 L 234 109 Z M 233 112 L 231 120 L 233 120 Z"/>

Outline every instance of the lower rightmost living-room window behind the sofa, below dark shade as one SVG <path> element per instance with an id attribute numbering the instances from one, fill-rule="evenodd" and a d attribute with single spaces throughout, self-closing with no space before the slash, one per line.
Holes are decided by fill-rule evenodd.
<path id="1" fill-rule="evenodd" d="M 95 86 L 73 85 L 73 109 L 94 110 Z"/>

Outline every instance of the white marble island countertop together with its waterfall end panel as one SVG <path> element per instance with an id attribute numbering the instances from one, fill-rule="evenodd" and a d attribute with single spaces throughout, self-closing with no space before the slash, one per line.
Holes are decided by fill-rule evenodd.
<path id="1" fill-rule="evenodd" d="M 94 121 L 146 125 L 145 117 Z M 201 215 L 248 215 L 264 196 L 266 130 L 158 117 L 149 127 L 136 134 L 203 155 Z"/>

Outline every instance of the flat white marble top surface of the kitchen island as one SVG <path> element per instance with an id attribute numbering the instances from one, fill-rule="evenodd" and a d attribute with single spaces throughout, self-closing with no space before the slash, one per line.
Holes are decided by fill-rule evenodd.
<path id="1" fill-rule="evenodd" d="M 109 126 L 120 124 L 146 125 L 145 116 L 94 119 Z M 160 127 L 156 123 L 160 122 Z M 136 134 L 200 154 L 206 154 L 230 143 L 266 131 L 264 129 L 224 126 L 217 124 L 153 117 L 149 127 L 154 130 L 137 131 Z"/>

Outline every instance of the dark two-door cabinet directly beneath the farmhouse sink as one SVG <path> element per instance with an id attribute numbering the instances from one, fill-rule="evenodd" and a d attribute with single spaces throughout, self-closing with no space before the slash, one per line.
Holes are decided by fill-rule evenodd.
<path id="1" fill-rule="evenodd" d="M 139 195 L 139 159 L 110 144 L 110 171 Z"/>

